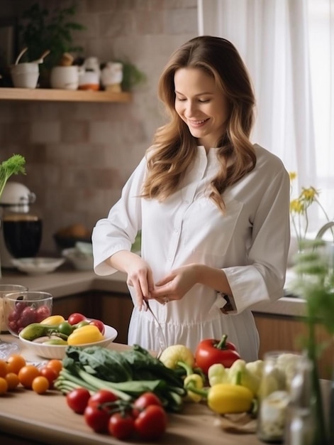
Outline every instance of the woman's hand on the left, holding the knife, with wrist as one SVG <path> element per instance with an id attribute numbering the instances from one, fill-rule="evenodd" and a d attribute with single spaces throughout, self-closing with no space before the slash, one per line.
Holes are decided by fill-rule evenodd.
<path id="1" fill-rule="evenodd" d="M 154 289 L 153 274 L 150 265 L 138 254 L 121 250 L 108 259 L 111 267 L 121 272 L 126 272 L 128 286 L 135 289 L 135 297 L 139 310 L 144 306 L 144 300 L 150 298 L 150 292 Z M 145 309 L 146 305 L 145 305 Z"/>

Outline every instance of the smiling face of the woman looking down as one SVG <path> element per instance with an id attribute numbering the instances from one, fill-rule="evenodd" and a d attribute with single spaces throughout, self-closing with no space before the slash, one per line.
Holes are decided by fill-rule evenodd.
<path id="1" fill-rule="evenodd" d="M 175 110 L 206 151 L 221 139 L 228 119 L 228 101 L 210 75 L 199 68 L 174 74 Z"/>

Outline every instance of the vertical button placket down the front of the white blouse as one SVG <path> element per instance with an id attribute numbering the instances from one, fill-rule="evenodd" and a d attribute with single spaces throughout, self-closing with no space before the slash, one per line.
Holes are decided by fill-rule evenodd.
<path id="1" fill-rule="evenodd" d="M 196 190 L 198 187 L 198 183 L 203 178 L 204 173 L 206 171 L 206 163 L 207 159 L 203 152 L 199 153 L 196 161 L 194 163 L 194 168 L 189 175 L 189 183 L 190 185 L 187 187 L 185 194 L 182 199 L 182 205 L 179 206 L 179 210 L 174 218 L 174 230 L 172 232 L 172 237 L 169 244 L 169 251 L 167 256 L 167 261 L 169 263 L 169 267 L 172 266 L 174 262 L 175 255 L 177 254 L 177 247 L 179 246 L 179 239 L 181 237 L 182 223 L 184 213 L 187 212 L 187 208 L 194 200 L 194 195 L 196 194 Z"/>

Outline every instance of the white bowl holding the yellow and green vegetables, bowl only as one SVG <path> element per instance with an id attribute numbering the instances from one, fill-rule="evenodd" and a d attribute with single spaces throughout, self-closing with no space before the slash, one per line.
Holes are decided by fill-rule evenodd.
<path id="1" fill-rule="evenodd" d="M 101 346 L 106 347 L 109 343 L 115 340 L 118 332 L 115 328 L 111 326 L 104 325 L 104 340 L 96 341 L 95 343 L 85 343 L 84 345 L 78 345 L 79 348 L 87 348 L 89 346 Z M 25 338 L 21 337 L 21 334 L 18 334 L 18 338 L 20 341 L 26 345 L 27 348 L 31 350 L 31 352 L 39 355 L 43 358 L 57 358 L 62 360 L 65 357 L 65 350 L 67 345 L 43 345 L 43 343 L 38 343 L 34 341 L 28 341 Z"/>

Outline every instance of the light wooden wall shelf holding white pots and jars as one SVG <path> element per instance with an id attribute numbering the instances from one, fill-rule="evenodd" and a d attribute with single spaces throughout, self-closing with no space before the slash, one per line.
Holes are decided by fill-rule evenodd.
<path id="1" fill-rule="evenodd" d="M 130 102 L 130 92 L 90 90 L 47 90 L 42 88 L 0 88 L 0 100 L 44 100 L 52 102 Z"/>

